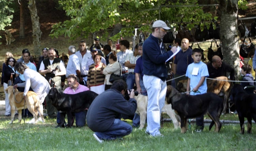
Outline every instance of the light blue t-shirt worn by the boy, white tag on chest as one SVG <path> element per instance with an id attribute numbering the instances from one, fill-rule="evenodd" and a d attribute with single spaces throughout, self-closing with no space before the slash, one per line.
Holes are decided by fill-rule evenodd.
<path id="1" fill-rule="evenodd" d="M 195 72 L 197 75 L 192 75 L 193 70 L 197 70 L 198 68 L 198 72 Z M 192 90 L 193 88 L 196 87 L 196 85 L 198 85 L 199 81 L 201 80 L 201 77 L 208 77 L 209 73 L 208 73 L 208 69 L 207 69 L 207 65 L 203 62 L 199 62 L 199 63 L 191 63 L 186 71 L 186 77 L 190 78 L 190 90 Z M 204 94 L 207 93 L 207 83 L 206 83 L 206 79 L 204 80 L 204 83 L 198 88 L 199 92 L 190 92 L 190 95 L 198 95 L 198 94 Z"/>

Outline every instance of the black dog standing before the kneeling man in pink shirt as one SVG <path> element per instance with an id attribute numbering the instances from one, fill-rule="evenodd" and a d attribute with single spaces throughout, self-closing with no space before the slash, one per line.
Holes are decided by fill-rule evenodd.
<path id="1" fill-rule="evenodd" d="M 52 101 L 52 105 L 58 111 L 67 113 L 68 127 L 71 127 L 72 114 L 88 109 L 98 94 L 93 91 L 84 91 L 78 94 L 64 94 L 56 88 L 51 88 L 48 97 Z M 65 114 L 61 114 L 61 123 L 56 127 L 64 127 Z"/>

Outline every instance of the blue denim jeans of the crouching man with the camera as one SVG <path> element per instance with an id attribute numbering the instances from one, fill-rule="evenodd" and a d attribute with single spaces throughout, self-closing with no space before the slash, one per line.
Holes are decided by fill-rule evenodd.
<path id="1" fill-rule="evenodd" d="M 115 140 L 117 138 L 124 137 L 131 134 L 132 127 L 130 124 L 125 123 L 119 119 L 115 119 L 114 123 L 108 130 L 104 132 L 95 132 L 97 137 L 102 140 Z"/>

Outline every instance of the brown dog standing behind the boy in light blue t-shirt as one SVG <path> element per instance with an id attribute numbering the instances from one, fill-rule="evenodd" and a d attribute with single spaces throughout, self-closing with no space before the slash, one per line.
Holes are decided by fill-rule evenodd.
<path id="1" fill-rule="evenodd" d="M 218 96 L 224 96 L 224 109 L 222 113 L 225 113 L 227 110 L 227 103 L 230 96 L 230 91 L 232 89 L 233 83 L 226 81 L 230 80 L 227 77 L 216 77 L 216 80 L 207 79 L 207 92 L 212 92 L 218 94 Z M 180 92 L 186 91 L 188 80 L 180 80 L 177 84 L 177 90 Z"/>

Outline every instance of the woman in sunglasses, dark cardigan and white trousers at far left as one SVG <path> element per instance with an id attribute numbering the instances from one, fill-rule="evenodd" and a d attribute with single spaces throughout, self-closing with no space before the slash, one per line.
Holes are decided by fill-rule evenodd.
<path id="1" fill-rule="evenodd" d="M 15 80 L 15 69 L 14 66 L 16 64 L 16 60 L 13 57 L 9 57 L 6 60 L 6 66 L 3 74 L 4 74 L 4 78 L 3 78 L 3 88 L 4 90 L 10 86 L 13 85 L 14 80 Z M 5 115 L 6 116 L 10 116 L 11 115 L 11 105 L 9 103 L 9 98 L 8 98 L 8 94 L 6 93 L 6 91 L 4 91 L 5 94 L 5 103 L 6 103 L 6 112 Z"/>

